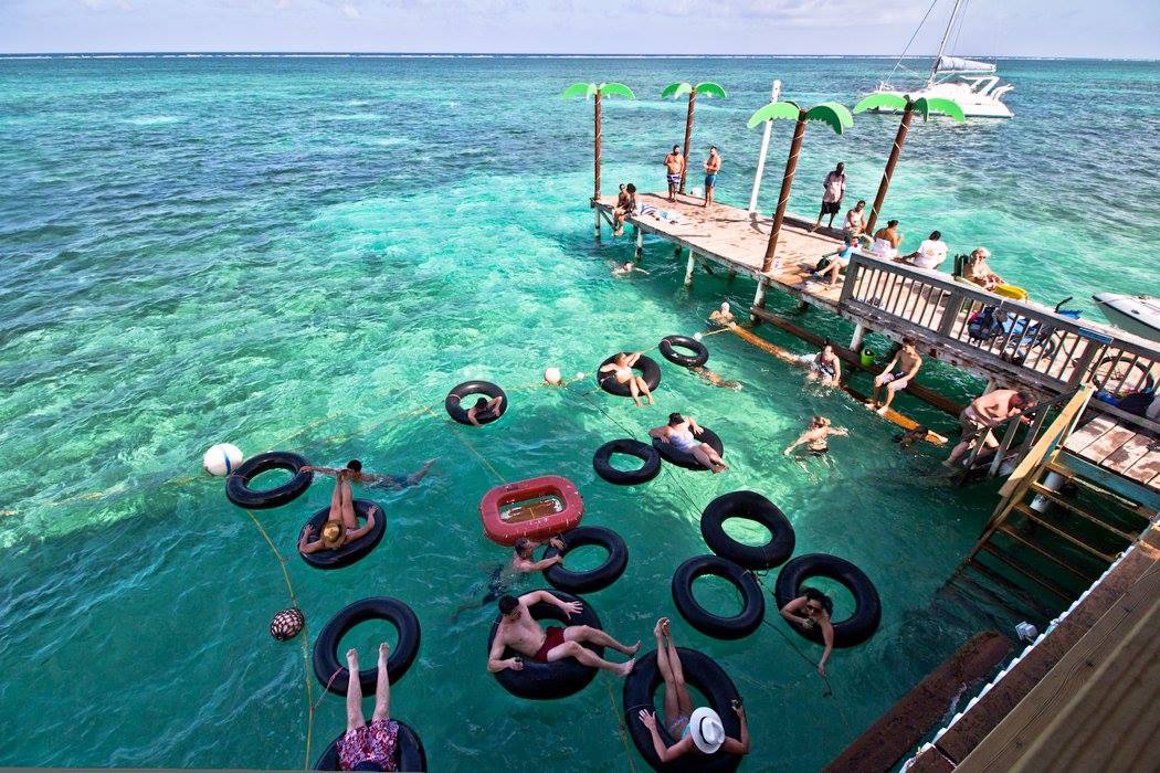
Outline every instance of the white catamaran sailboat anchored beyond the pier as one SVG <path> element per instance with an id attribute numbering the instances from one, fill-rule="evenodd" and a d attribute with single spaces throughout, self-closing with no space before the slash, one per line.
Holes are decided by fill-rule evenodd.
<path id="1" fill-rule="evenodd" d="M 994 64 L 943 56 L 951 28 L 955 27 L 955 21 L 958 19 L 960 5 L 962 0 L 955 0 L 955 8 L 950 12 L 950 21 L 947 23 L 947 31 L 943 32 L 942 42 L 938 44 L 938 53 L 930 67 L 927 85 L 915 90 L 904 92 L 891 86 L 887 79 L 878 83 L 878 88 L 873 93 L 897 94 L 909 96 L 912 100 L 922 96 L 927 99 L 942 97 L 958 103 L 966 116 L 1012 118 L 1014 114 L 1010 108 L 1003 104 L 1003 96 L 1015 87 L 1010 83 L 1000 85 Z M 894 65 L 894 70 L 898 70 L 899 64 L 901 64 L 901 59 Z M 890 112 L 890 110 L 883 110 L 883 112 Z"/>

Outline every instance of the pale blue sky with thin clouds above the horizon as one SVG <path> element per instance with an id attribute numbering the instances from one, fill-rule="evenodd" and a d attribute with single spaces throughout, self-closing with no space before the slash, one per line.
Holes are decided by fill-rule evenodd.
<path id="1" fill-rule="evenodd" d="M 0 52 L 897 54 L 929 0 L 0 0 Z M 937 46 L 940 0 L 913 52 Z M 957 52 L 1160 58 L 1155 0 L 973 0 Z"/>

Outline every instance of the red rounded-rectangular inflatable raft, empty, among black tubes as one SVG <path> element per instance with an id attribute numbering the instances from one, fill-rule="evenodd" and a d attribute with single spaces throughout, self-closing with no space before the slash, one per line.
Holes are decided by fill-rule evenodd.
<path id="1" fill-rule="evenodd" d="M 582 515 L 580 491 L 559 475 L 496 486 L 479 502 L 484 533 L 500 545 L 566 532 L 580 524 Z"/>

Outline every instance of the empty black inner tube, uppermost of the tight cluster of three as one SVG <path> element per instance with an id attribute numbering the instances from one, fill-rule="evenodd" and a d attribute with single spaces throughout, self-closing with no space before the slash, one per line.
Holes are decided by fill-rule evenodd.
<path id="1" fill-rule="evenodd" d="M 769 541 L 751 546 L 725 533 L 726 518 L 753 520 L 769 530 Z M 701 535 L 709 549 L 746 569 L 770 569 L 793 555 L 793 525 L 776 504 L 755 491 L 732 491 L 717 497 L 701 513 Z"/>

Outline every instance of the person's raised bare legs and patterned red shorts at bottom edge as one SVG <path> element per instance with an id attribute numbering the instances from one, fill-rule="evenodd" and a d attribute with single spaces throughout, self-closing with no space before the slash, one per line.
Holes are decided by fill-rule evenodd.
<path id="1" fill-rule="evenodd" d="M 375 686 L 375 713 L 370 724 L 362 713 L 362 683 L 358 679 L 358 652 L 347 650 L 347 731 L 339 739 L 339 767 L 343 771 L 398 771 L 399 723 L 391 719 L 391 677 L 386 659 L 391 647 L 378 646 L 378 683 Z"/>

